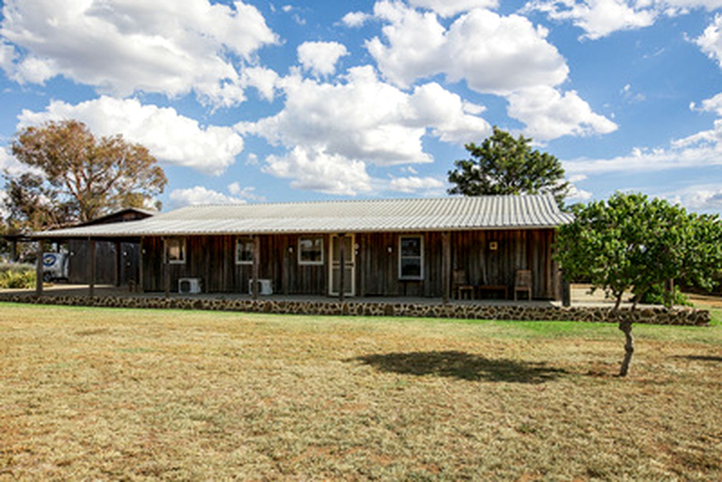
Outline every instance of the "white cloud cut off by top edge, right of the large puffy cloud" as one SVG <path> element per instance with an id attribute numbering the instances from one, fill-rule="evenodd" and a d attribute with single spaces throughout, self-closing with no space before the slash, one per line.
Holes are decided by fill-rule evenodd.
<path id="1" fill-rule="evenodd" d="M 656 9 L 634 0 L 535 0 L 524 12 L 538 10 L 550 19 L 571 20 L 584 30 L 582 38 L 596 40 L 618 30 L 648 27 L 658 16 Z"/>

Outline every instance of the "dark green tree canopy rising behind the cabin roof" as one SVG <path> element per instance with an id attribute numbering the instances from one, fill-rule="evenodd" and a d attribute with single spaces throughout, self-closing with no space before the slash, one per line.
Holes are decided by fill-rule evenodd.
<path id="1" fill-rule="evenodd" d="M 530 142 L 531 139 L 523 136 L 515 139 L 494 127 L 492 136 L 480 146 L 466 144 L 471 159 L 454 162 L 456 169 L 448 172 L 448 180 L 456 185 L 448 193 L 464 196 L 551 193 L 561 204 L 569 188 L 562 163 L 552 154 L 531 149 Z"/>

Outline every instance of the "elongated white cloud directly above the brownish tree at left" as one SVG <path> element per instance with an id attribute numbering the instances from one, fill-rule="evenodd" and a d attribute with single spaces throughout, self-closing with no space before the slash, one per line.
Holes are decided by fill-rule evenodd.
<path id="1" fill-rule="evenodd" d="M 210 174 L 223 172 L 243 150 L 243 139 L 230 127 L 201 127 L 173 108 L 142 105 L 136 99 L 100 97 L 77 105 L 53 100 L 42 112 L 23 110 L 17 127 L 64 119 L 82 121 L 100 136 L 121 133 L 162 161 Z"/>

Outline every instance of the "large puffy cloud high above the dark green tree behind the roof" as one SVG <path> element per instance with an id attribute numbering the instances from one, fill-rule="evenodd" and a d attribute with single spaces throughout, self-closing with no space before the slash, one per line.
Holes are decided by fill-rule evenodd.
<path id="1" fill-rule="evenodd" d="M 558 87 L 567 79 L 567 63 L 547 41 L 547 30 L 525 17 L 474 9 L 446 28 L 435 12 L 391 1 L 377 2 L 374 14 L 386 25 L 383 40 L 368 40 L 367 50 L 383 76 L 401 88 L 436 74 L 464 80 L 477 92 L 506 97 L 510 117 L 541 140 L 617 128 L 577 92 Z M 465 110 L 474 113 L 474 106 Z"/>

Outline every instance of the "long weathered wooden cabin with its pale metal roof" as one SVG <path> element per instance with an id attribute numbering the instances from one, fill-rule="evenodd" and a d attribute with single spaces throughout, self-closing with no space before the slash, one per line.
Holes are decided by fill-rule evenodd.
<path id="1" fill-rule="evenodd" d="M 448 298 L 463 274 L 474 296 L 510 297 L 531 271 L 532 297 L 560 299 L 566 222 L 552 196 L 479 196 L 188 206 L 36 237 L 139 242 L 145 292 Z"/>

